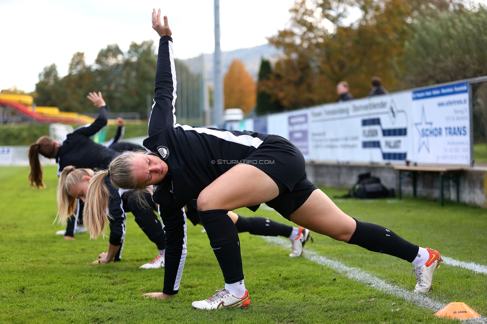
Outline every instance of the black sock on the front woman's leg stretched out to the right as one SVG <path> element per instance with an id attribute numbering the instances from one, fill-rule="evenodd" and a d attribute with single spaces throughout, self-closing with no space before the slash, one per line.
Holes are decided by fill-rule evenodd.
<path id="1" fill-rule="evenodd" d="M 354 218 L 355 219 L 355 218 Z M 361 246 L 372 252 L 389 254 L 408 262 L 413 262 L 419 246 L 406 241 L 383 226 L 360 222 L 355 219 L 357 228 L 348 244 Z"/>

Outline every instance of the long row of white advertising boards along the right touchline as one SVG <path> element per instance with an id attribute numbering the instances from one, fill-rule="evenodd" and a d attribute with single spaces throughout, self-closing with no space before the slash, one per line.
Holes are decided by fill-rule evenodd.
<path id="1" fill-rule="evenodd" d="M 469 85 L 460 82 L 271 114 L 227 127 L 285 137 L 310 161 L 468 165 L 469 107 Z"/>

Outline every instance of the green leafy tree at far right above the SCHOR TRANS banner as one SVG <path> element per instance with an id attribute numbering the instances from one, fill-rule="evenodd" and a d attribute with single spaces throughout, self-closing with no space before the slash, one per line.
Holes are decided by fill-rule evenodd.
<path id="1" fill-rule="evenodd" d="M 421 17 L 405 44 L 406 87 L 487 75 L 487 8 Z"/>

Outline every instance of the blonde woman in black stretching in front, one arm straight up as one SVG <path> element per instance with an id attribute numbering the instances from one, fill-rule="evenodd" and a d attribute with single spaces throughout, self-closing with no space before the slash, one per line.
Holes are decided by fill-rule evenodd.
<path id="1" fill-rule="evenodd" d="M 96 198 L 106 175 L 120 188 L 157 185 L 152 198 L 160 204 L 166 231 L 166 269 L 162 293 L 148 296 L 165 299 L 178 293 L 186 258 L 181 207 L 191 199 L 197 199 L 201 222 L 225 279 L 225 288 L 216 295 L 193 302 L 196 309 L 250 304 L 239 235 L 227 212 L 245 206 L 255 210 L 263 202 L 311 231 L 412 262 L 417 275 L 415 291 L 430 290 L 440 254 L 412 244 L 390 229 L 346 215 L 306 178 L 303 155 L 286 139 L 177 124 L 173 40 L 167 17 L 161 22 L 160 9 L 153 10 L 152 27 L 161 37 L 149 137 L 144 141 L 152 153 L 119 156 L 108 171 L 95 174 L 88 187 L 85 214 L 90 218 L 87 229 L 97 237 L 106 218 L 92 218 L 101 216 L 99 211 L 106 208 L 102 204 L 106 199 Z"/>

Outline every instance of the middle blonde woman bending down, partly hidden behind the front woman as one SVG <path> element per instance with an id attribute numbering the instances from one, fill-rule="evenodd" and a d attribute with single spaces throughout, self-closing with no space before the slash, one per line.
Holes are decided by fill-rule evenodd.
<path id="1" fill-rule="evenodd" d="M 88 168 L 75 168 L 66 166 L 60 176 L 57 187 L 57 214 L 59 221 L 65 221 L 76 208 L 76 200 L 85 201 L 88 183 L 93 177 L 93 170 Z M 158 256 L 151 262 L 140 266 L 142 269 L 164 268 L 164 253 L 166 249 L 166 237 L 159 219 L 152 208 L 156 208 L 150 198 L 150 193 L 145 193 L 145 204 L 138 205 L 133 192 L 115 189 L 110 180 L 105 180 L 110 192 L 107 199 L 108 212 L 110 214 L 110 236 L 108 252 L 102 252 L 98 260 L 93 263 L 109 263 L 120 261 L 125 241 L 126 212 L 131 211 L 135 221 L 149 239 L 154 242 L 159 250 Z M 105 209 L 106 210 L 106 209 Z M 106 211 L 104 212 L 106 215 Z"/>

